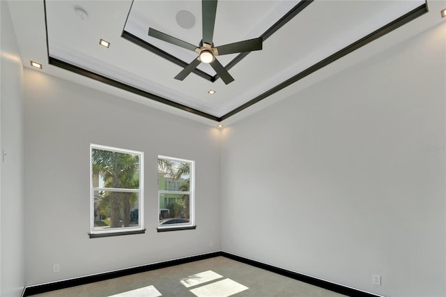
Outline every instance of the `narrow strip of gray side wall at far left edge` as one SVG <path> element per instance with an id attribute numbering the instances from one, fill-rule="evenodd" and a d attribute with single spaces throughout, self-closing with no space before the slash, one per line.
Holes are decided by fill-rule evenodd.
<path id="1" fill-rule="evenodd" d="M 0 296 L 20 296 L 24 287 L 24 194 L 22 60 L 8 4 L 1 10 L 0 99 Z"/>

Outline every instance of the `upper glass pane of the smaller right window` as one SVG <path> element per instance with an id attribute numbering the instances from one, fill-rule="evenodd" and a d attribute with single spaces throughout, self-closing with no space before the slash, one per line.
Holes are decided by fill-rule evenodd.
<path id="1" fill-rule="evenodd" d="M 158 159 L 158 190 L 190 190 L 190 163 Z"/>

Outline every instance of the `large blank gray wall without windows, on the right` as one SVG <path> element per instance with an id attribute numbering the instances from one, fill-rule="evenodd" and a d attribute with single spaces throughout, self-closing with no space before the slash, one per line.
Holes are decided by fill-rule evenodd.
<path id="1" fill-rule="evenodd" d="M 222 250 L 446 296 L 445 44 L 443 23 L 224 129 Z"/>

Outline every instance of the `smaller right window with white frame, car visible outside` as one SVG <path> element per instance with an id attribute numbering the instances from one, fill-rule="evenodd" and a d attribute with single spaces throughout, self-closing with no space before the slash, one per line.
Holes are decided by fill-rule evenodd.
<path id="1" fill-rule="evenodd" d="M 158 231 L 195 229 L 194 161 L 158 156 Z"/>

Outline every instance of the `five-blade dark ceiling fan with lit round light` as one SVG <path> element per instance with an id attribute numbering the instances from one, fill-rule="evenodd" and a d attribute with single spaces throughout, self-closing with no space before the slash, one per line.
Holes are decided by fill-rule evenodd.
<path id="1" fill-rule="evenodd" d="M 203 39 L 200 42 L 199 47 L 187 43 L 183 40 L 169 36 L 166 33 L 162 33 L 153 28 L 148 29 L 148 36 L 163 40 L 167 43 L 183 47 L 186 50 L 192 50 L 199 55 L 197 59 L 194 59 L 189 65 L 181 70 L 175 79 L 183 80 L 192 73 L 192 71 L 199 66 L 199 63 L 209 63 L 215 70 L 225 84 L 233 82 L 233 77 L 229 74 L 228 70 L 222 66 L 222 64 L 215 59 L 215 56 L 221 56 L 224 54 L 235 54 L 239 52 L 252 52 L 254 50 L 262 49 L 262 38 L 254 38 L 249 40 L 240 41 L 238 43 L 229 43 L 227 45 L 220 45 L 214 47 L 213 35 L 215 25 L 215 14 L 217 13 L 217 0 L 203 0 L 201 1 L 201 10 L 203 15 Z"/>

